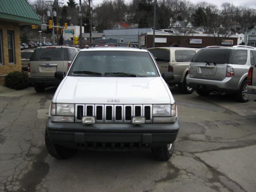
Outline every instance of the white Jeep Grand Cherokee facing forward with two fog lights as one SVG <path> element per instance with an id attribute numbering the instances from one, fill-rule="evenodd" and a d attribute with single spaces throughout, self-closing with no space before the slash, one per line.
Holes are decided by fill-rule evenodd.
<path id="1" fill-rule="evenodd" d="M 48 152 L 69 158 L 78 148 L 151 148 L 168 160 L 179 131 L 177 108 L 148 50 L 128 47 L 82 49 L 62 79 L 49 109 Z"/>

